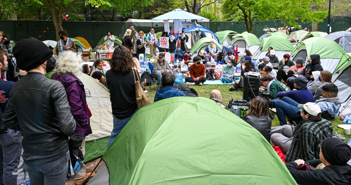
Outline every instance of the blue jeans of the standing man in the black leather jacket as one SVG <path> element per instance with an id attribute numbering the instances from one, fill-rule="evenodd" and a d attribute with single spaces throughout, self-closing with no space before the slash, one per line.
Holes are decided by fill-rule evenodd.
<path id="1" fill-rule="evenodd" d="M 64 185 L 68 172 L 69 151 L 59 159 L 47 164 L 25 165 L 31 184 L 47 185 L 57 184 Z"/>

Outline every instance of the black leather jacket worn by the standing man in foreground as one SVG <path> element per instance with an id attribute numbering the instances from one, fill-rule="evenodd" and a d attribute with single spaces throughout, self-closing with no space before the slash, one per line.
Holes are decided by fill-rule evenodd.
<path id="1" fill-rule="evenodd" d="M 28 72 L 14 84 L 2 123 L 22 131 L 23 158 L 28 165 L 64 156 L 68 136 L 75 130 L 64 86 L 39 72 Z"/>

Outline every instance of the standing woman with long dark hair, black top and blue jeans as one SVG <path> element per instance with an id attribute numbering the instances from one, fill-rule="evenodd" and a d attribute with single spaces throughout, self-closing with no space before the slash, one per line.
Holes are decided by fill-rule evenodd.
<path id="1" fill-rule="evenodd" d="M 106 72 L 107 87 L 111 93 L 111 106 L 113 114 L 113 129 L 108 139 L 107 148 L 116 139 L 118 134 L 138 111 L 137 99 L 135 98 L 135 79 L 141 82 L 139 73 L 133 69 L 139 63 L 133 58 L 125 46 L 115 47 L 112 59 L 111 70 Z"/>

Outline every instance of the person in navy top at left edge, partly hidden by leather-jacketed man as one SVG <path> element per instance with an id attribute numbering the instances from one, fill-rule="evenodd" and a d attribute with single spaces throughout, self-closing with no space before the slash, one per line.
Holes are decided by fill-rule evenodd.
<path id="1" fill-rule="evenodd" d="M 6 52 L 0 49 L 0 72 L 6 71 L 7 57 Z M 15 82 L 0 79 L 0 110 L 4 113 L 10 91 Z M 21 132 L 18 130 L 7 129 L 0 122 L 0 184 L 17 184 L 17 175 L 13 175 L 21 158 Z"/>

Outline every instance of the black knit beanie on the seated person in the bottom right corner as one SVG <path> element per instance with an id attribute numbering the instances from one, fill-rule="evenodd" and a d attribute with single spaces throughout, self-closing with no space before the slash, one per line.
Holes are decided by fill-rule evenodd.
<path id="1" fill-rule="evenodd" d="M 351 159 L 351 148 L 337 138 L 326 138 L 322 141 L 322 154 L 331 165 L 346 165 Z"/>

